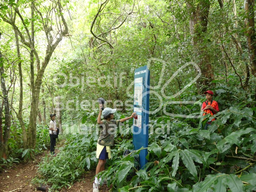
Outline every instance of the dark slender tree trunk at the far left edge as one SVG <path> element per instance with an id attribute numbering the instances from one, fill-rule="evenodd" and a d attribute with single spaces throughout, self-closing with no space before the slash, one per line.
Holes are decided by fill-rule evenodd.
<path id="1" fill-rule="evenodd" d="M 0 33 L 0 39 L 1 39 L 1 33 Z M 2 53 L 0 50 L 0 75 L 1 75 L 1 88 L 3 93 L 3 100 L 4 100 L 4 114 L 5 114 L 5 122 L 4 122 L 4 136 L 3 140 L 0 140 L 0 157 L 7 158 L 8 153 L 8 139 L 10 136 L 10 106 L 9 106 L 9 100 L 8 100 L 8 91 L 5 86 L 5 80 L 4 80 L 4 62 Z M 2 111 L 1 111 L 2 113 Z M 2 139 L 2 138 L 1 138 Z"/>

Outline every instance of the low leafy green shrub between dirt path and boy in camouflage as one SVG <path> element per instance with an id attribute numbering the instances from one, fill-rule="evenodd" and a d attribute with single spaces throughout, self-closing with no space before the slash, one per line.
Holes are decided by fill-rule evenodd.
<path id="1" fill-rule="evenodd" d="M 86 170 L 96 166 L 96 145 L 93 135 L 70 135 L 56 157 L 44 157 L 38 165 L 40 178 L 34 182 L 52 184 L 54 189 L 72 185 Z"/>

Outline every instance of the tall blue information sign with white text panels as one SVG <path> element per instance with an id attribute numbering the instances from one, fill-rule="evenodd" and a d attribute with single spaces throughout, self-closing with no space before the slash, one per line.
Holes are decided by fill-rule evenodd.
<path id="1" fill-rule="evenodd" d="M 137 116 L 133 118 L 132 138 L 135 150 L 148 147 L 149 78 L 150 71 L 147 66 L 135 69 L 133 111 Z M 140 169 L 148 162 L 147 155 L 147 149 L 140 151 Z"/>

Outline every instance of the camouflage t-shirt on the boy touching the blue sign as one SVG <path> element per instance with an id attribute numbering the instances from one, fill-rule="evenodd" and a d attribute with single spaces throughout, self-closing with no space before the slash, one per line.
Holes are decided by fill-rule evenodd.
<path id="1" fill-rule="evenodd" d="M 100 124 L 100 137 L 98 139 L 99 145 L 113 146 L 116 128 L 119 127 L 120 120 L 102 120 Z"/>

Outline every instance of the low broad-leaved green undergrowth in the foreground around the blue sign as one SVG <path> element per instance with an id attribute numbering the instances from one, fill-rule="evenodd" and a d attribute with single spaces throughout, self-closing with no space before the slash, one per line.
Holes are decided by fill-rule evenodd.
<path id="1" fill-rule="evenodd" d="M 219 92 L 216 98 L 222 101 L 228 93 L 233 92 L 234 97 L 230 98 L 233 107 L 231 103 L 223 103 L 222 111 L 216 114 L 216 120 L 209 130 L 198 128 L 199 119 L 174 120 L 168 116 L 162 117 L 160 112 L 150 117 L 154 131 L 149 136 L 149 148 L 142 149 L 149 152 L 146 170 L 130 172 L 134 170 L 134 157 L 123 157 L 123 153 L 126 148 L 133 148 L 132 133 L 117 133 L 112 148 L 114 156 L 107 161 L 106 171 L 100 173 L 102 178 L 107 179 L 108 186 L 113 184 L 114 191 L 256 190 L 256 109 L 246 107 L 250 105 L 250 100 L 246 101 L 241 96 L 241 100 L 237 99 L 235 90 L 222 90 L 215 90 Z M 193 96 L 196 98 L 196 95 L 182 96 L 185 100 Z M 186 110 L 192 111 L 194 108 L 199 110 L 197 105 L 187 105 L 172 112 L 186 114 Z M 96 118 L 97 113 L 92 116 Z M 117 118 L 120 118 L 119 114 Z M 168 129 L 170 134 L 167 134 Z M 62 188 L 72 185 L 86 170 L 95 168 L 95 133 L 82 131 L 66 138 L 61 152 L 54 158 L 46 156 L 39 165 L 38 173 L 41 176 L 34 182 L 52 183 L 53 188 Z M 58 162 L 58 166 L 52 166 L 49 161 Z M 159 161 L 159 164 L 155 161 Z"/>

